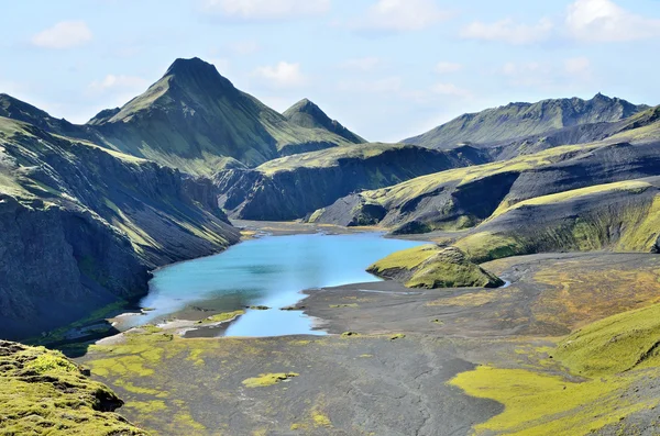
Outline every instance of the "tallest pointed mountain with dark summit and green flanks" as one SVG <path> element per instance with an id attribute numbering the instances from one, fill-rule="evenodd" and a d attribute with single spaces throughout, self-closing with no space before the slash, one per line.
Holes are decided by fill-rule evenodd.
<path id="1" fill-rule="evenodd" d="M 350 136 L 339 124 L 329 125 Z M 228 157 L 256 166 L 363 142 L 355 135 L 346 139 L 321 124 L 289 122 L 199 58 L 176 59 L 146 92 L 123 108 L 100 112 L 88 126 L 109 148 L 194 175 L 216 172 Z"/>

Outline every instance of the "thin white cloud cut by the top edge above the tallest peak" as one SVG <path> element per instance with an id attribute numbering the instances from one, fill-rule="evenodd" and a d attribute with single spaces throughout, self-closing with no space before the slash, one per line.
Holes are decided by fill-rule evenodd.
<path id="1" fill-rule="evenodd" d="M 330 0 L 204 0 L 202 11 L 244 21 L 286 20 L 319 15 Z"/>

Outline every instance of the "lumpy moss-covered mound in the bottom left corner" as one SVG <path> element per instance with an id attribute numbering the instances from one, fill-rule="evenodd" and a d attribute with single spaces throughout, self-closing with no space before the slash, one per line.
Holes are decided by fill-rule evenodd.
<path id="1" fill-rule="evenodd" d="M 146 435 L 108 410 L 121 400 L 62 354 L 0 342 L 0 434 Z"/>

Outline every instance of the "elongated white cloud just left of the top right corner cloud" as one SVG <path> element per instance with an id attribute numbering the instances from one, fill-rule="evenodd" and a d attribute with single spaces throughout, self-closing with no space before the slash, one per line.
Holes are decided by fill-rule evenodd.
<path id="1" fill-rule="evenodd" d="M 534 44 L 546 41 L 554 24 L 549 19 L 541 19 L 535 25 L 519 24 L 512 19 L 484 23 L 475 21 L 461 31 L 461 36 L 469 40 L 502 41 L 510 44 Z"/>

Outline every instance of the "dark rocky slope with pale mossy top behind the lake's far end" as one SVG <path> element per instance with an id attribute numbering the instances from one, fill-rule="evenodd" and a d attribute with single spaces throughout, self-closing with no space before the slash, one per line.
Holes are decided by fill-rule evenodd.
<path id="1" fill-rule="evenodd" d="M 300 219 L 351 192 L 386 187 L 420 175 L 485 161 L 471 147 L 437 152 L 415 146 L 370 144 L 276 159 L 253 170 L 219 172 L 220 204 L 244 220 Z M 382 217 L 385 210 L 371 211 Z M 371 224 L 363 214 L 354 224 Z"/>

